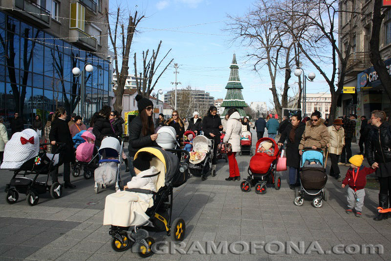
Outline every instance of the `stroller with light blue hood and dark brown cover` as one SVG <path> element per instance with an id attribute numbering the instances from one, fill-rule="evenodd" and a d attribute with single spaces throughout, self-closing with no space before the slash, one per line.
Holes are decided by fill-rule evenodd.
<path id="1" fill-rule="evenodd" d="M 304 204 L 304 198 L 312 199 L 312 206 L 320 208 L 327 201 L 325 157 L 320 149 L 304 148 L 301 158 L 300 189 L 295 189 L 296 206 Z"/>

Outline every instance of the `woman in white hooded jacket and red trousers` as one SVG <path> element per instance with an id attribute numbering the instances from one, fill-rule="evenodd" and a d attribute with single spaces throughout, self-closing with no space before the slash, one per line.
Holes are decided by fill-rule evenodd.
<path id="1" fill-rule="evenodd" d="M 240 115 L 236 108 L 231 108 L 228 111 L 228 115 L 229 118 L 227 120 L 224 142 L 231 143 L 232 152 L 227 154 L 229 161 L 229 178 L 226 178 L 225 180 L 231 181 L 240 179 L 239 166 L 235 155 L 240 151 L 241 123 L 239 121 Z"/>

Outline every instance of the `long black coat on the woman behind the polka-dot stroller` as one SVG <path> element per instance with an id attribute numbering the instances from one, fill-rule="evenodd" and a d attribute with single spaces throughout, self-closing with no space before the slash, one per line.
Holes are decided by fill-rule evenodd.
<path id="1" fill-rule="evenodd" d="M 72 136 L 70 135 L 68 124 L 66 124 L 64 119 L 57 118 L 52 121 L 49 139 L 51 142 L 55 141 L 56 143 L 65 143 L 64 149 L 60 152 L 61 158 L 65 163 L 75 161 L 75 151 L 73 148 Z M 53 152 L 54 151 L 52 151 L 52 153 Z"/>

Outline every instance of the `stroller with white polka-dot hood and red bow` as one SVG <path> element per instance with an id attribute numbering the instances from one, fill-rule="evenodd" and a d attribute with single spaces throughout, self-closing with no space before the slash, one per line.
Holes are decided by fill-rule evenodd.
<path id="1" fill-rule="evenodd" d="M 63 185 L 54 182 L 51 186 L 47 184 L 50 172 L 62 164 L 59 154 L 40 153 L 40 145 L 37 132 L 32 129 L 25 129 L 15 133 L 11 140 L 6 143 L 4 149 L 4 161 L 2 169 L 14 172 L 9 184 L 5 185 L 7 193 L 6 201 L 14 204 L 19 199 L 19 193 L 27 195 L 27 203 L 30 206 L 38 204 L 39 194 L 50 191 L 52 198 L 60 198 L 63 194 Z M 57 143 L 56 151 L 61 151 L 65 144 Z M 33 175 L 33 178 L 26 177 Z M 46 175 L 44 182 L 37 181 L 39 175 Z"/>

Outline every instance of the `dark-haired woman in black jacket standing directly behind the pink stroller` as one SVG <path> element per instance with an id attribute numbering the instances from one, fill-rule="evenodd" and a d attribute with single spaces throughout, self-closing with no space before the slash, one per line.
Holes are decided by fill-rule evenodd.
<path id="1" fill-rule="evenodd" d="M 111 113 L 111 108 L 107 105 L 103 106 L 99 111 L 99 116 L 97 117 L 95 124 L 92 128 L 92 133 L 95 135 L 95 145 L 100 147 L 102 140 L 105 137 L 113 137 L 114 131 L 113 127 L 110 124 L 109 117 Z"/>

